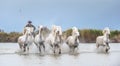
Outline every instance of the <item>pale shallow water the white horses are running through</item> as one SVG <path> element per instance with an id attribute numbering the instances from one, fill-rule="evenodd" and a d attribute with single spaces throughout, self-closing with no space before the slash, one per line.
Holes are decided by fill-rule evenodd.
<path id="1" fill-rule="evenodd" d="M 38 54 L 35 45 L 30 54 L 18 54 L 17 43 L 0 43 L 0 66 L 120 66 L 120 43 L 110 44 L 109 53 L 98 53 L 95 44 L 80 44 L 78 53 L 69 54 L 67 45 L 62 46 L 62 54 Z"/>

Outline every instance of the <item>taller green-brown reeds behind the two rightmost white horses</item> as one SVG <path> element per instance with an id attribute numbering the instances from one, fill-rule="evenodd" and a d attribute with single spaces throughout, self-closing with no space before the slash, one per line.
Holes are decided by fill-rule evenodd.
<path id="1" fill-rule="evenodd" d="M 71 32 L 72 30 L 69 29 L 64 31 L 63 34 L 66 35 L 67 38 L 68 36 L 71 35 Z M 97 36 L 103 35 L 102 30 L 96 30 L 96 29 L 83 29 L 83 30 L 79 30 L 79 32 L 80 32 L 80 42 L 92 43 L 96 41 Z M 110 41 L 115 43 L 120 42 L 120 31 L 118 30 L 111 31 Z"/>

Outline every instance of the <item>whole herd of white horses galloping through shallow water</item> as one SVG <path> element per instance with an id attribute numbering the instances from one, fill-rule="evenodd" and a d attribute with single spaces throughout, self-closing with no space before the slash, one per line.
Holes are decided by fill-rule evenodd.
<path id="1" fill-rule="evenodd" d="M 67 39 L 63 39 L 61 26 L 53 25 L 51 30 L 47 32 L 47 27 L 40 25 L 38 27 L 38 34 L 34 36 L 34 29 L 32 27 L 25 27 L 24 34 L 18 38 L 18 44 L 23 52 L 29 51 L 29 47 L 35 44 L 42 53 L 46 50 L 46 44 L 48 44 L 52 49 L 53 53 L 61 54 L 61 45 L 63 43 L 67 44 L 70 48 L 70 52 L 75 52 L 79 46 L 79 31 L 76 27 L 72 27 L 72 34 L 68 36 Z M 105 52 L 108 52 L 109 47 L 109 35 L 110 29 L 106 27 L 103 30 L 103 36 L 98 36 L 96 38 L 96 47 L 103 46 Z"/>

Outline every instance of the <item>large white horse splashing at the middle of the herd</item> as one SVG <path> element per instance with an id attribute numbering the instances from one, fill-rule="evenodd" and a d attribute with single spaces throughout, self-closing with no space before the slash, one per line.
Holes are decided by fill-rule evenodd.
<path id="1" fill-rule="evenodd" d="M 53 25 L 51 33 L 46 39 L 46 43 L 48 43 L 52 47 L 54 53 L 56 53 L 56 50 L 59 49 L 59 54 L 61 54 L 60 48 L 61 35 L 62 35 L 61 27 Z"/>

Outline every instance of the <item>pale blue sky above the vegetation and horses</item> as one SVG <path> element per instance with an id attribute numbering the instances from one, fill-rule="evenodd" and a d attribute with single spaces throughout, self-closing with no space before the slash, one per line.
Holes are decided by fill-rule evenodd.
<path id="1" fill-rule="evenodd" d="M 22 32 L 27 21 L 62 30 L 120 30 L 120 0 L 0 0 L 0 28 Z"/>

